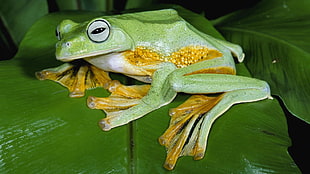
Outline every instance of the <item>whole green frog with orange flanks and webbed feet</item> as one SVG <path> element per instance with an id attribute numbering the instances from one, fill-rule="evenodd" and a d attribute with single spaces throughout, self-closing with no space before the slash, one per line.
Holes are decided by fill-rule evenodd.
<path id="1" fill-rule="evenodd" d="M 56 58 L 69 63 L 36 75 L 66 86 L 71 97 L 94 87 L 109 90 L 109 97 L 87 100 L 90 108 L 106 112 L 99 122 L 104 131 L 169 104 L 178 92 L 195 94 L 171 110 L 170 125 L 159 138 L 167 148 L 168 170 L 180 156 L 203 158 L 212 124 L 233 104 L 271 98 L 266 82 L 235 75 L 232 56 L 243 60 L 240 46 L 198 31 L 171 9 L 84 23 L 64 20 L 57 37 Z M 125 86 L 108 72 L 151 85 Z"/>

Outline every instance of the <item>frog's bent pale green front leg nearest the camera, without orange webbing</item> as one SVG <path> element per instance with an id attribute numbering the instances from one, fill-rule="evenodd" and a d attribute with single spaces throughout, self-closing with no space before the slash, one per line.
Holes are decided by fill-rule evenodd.
<path id="1" fill-rule="evenodd" d="M 147 95 L 142 99 L 127 100 L 127 103 L 129 104 L 126 104 L 125 101 L 124 106 L 126 106 L 124 108 L 117 109 L 114 112 L 107 112 L 108 114 L 106 118 L 99 121 L 101 129 L 108 131 L 111 128 L 127 124 L 132 120 L 136 120 L 145 114 L 170 103 L 176 96 L 177 92 L 169 87 L 170 85 L 167 78 L 175 69 L 176 66 L 172 63 L 160 64 L 159 69 L 155 71 L 152 76 L 153 82 L 151 88 L 147 91 Z M 97 99 L 98 98 L 89 98 L 88 105 L 91 108 L 99 109 L 106 109 L 105 107 L 111 106 L 111 102 L 108 101 L 108 98 Z M 103 104 L 103 107 L 101 104 Z M 119 105 L 119 103 L 116 103 L 116 105 Z M 111 108 L 113 108 L 113 106 Z"/>

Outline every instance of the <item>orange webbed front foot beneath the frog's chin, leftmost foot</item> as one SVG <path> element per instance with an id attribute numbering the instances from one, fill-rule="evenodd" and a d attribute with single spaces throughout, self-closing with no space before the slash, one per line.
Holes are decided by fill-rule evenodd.
<path id="1" fill-rule="evenodd" d="M 65 63 L 36 73 L 39 80 L 53 80 L 68 88 L 70 97 L 83 97 L 86 89 L 107 88 L 111 79 L 107 72 L 84 61 Z"/>

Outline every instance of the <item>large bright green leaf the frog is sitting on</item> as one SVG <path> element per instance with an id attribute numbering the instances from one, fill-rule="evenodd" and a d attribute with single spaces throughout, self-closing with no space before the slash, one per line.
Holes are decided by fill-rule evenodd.
<path id="1" fill-rule="evenodd" d="M 203 32 L 220 35 L 203 17 L 182 8 L 180 14 Z M 128 125 L 102 132 L 103 112 L 72 99 L 34 72 L 60 65 L 54 56 L 54 30 L 63 19 L 84 21 L 98 13 L 54 13 L 40 19 L 24 37 L 19 53 L 0 62 L 0 173 L 168 173 L 166 150 L 157 138 L 168 127 L 173 103 Z M 239 71 L 240 70 L 240 71 Z M 239 73 L 248 75 L 243 64 Z M 101 89 L 86 94 L 109 94 Z M 214 124 L 206 156 L 179 159 L 171 173 L 300 173 L 289 156 L 291 142 L 277 100 L 233 106 Z"/>

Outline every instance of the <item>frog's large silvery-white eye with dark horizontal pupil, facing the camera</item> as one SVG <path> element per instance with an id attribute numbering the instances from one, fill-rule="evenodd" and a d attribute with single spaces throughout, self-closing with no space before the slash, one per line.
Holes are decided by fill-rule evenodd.
<path id="1" fill-rule="evenodd" d="M 106 20 L 93 21 L 87 28 L 87 35 L 93 42 L 104 42 L 110 34 L 110 25 Z"/>

